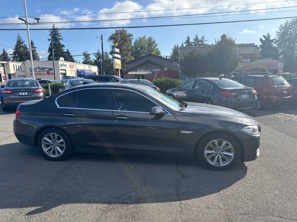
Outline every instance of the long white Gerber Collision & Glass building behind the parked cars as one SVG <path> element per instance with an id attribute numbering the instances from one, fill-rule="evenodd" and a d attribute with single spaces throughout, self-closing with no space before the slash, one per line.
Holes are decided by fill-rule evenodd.
<path id="1" fill-rule="evenodd" d="M 53 61 L 34 61 L 35 79 L 54 79 Z M 60 81 L 62 76 L 97 75 L 98 67 L 73 62 L 55 60 L 55 76 Z M 0 61 L 0 82 L 6 79 L 32 78 L 32 68 L 30 61 L 11 62 Z"/>

